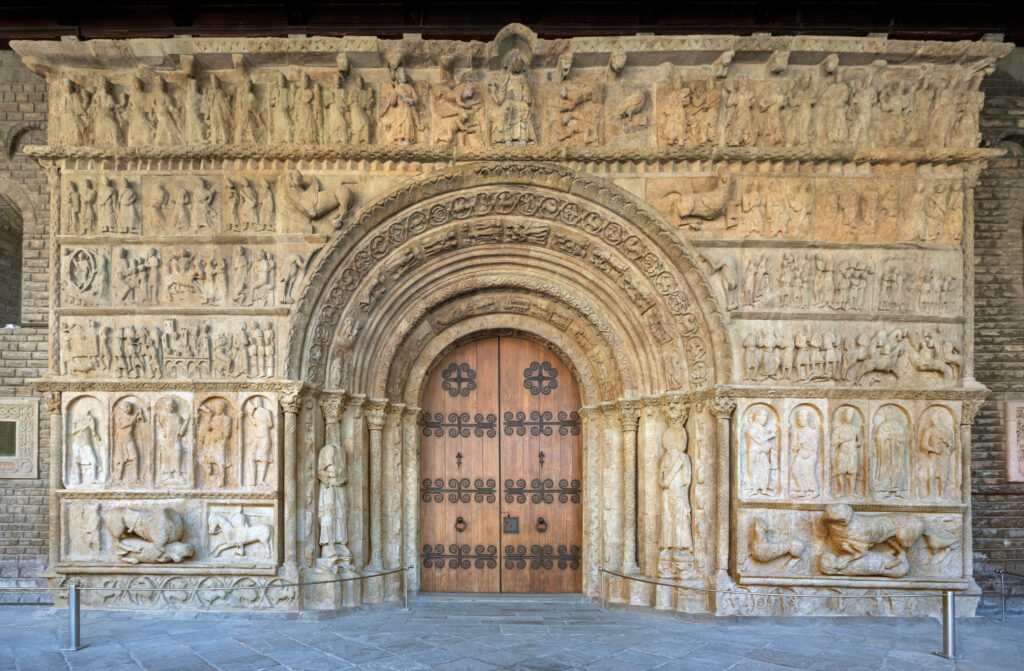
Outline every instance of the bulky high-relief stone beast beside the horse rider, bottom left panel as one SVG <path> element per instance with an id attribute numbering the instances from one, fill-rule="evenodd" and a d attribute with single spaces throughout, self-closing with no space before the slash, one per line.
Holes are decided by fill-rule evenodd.
<path id="1" fill-rule="evenodd" d="M 183 542 L 184 521 L 173 508 L 111 508 L 103 515 L 103 525 L 117 539 L 118 558 L 126 563 L 178 563 L 195 553 L 193 546 Z"/>

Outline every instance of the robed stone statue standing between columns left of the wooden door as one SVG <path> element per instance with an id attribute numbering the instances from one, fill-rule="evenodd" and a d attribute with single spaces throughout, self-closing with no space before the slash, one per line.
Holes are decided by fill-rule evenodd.
<path id="1" fill-rule="evenodd" d="M 337 443 L 321 448 L 316 457 L 321 563 L 332 571 L 354 574 L 348 549 L 348 456 Z"/>

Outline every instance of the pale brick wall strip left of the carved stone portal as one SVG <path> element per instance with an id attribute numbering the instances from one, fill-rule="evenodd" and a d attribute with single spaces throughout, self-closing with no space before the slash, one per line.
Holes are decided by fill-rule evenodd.
<path id="1" fill-rule="evenodd" d="M 14 233 L 0 235 L 0 396 L 38 395 L 26 380 L 46 369 L 48 206 L 46 175 L 20 152 L 26 143 L 43 142 L 46 85 L 10 51 L 0 51 L 0 202 L 5 219 L 19 218 Z M 14 247 L 12 249 L 11 247 Z M 15 270 L 14 268 L 19 269 Z M 8 269 L 9 268 L 9 269 Z M 14 282 L 11 272 L 20 272 Z M 3 307 L 20 285 L 20 306 L 11 317 Z M 46 564 L 48 526 L 49 421 L 40 400 L 39 478 L 0 479 L 0 586 L 34 586 Z M 45 593 L 0 592 L 0 601 L 48 601 Z"/>

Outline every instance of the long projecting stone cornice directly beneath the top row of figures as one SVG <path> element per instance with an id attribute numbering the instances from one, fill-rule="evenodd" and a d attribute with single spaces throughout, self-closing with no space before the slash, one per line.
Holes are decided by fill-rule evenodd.
<path id="1" fill-rule="evenodd" d="M 193 144 L 166 148 L 95 148 L 32 144 L 26 155 L 42 162 L 61 160 L 116 161 L 138 163 L 151 169 L 153 161 L 380 161 L 411 163 L 463 163 L 477 161 L 575 161 L 582 163 L 850 163 L 850 164 L 935 164 L 984 163 L 1002 156 L 997 149 L 857 149 L 855 146 L 753 148 L 753 146 L 460 146 L 357 144 Z M 120 166 L 119 166 L 120 167 Z M 273 167 L 273 166 L 268 166 Z M 232 166 L 232 169 L 237 166 Z"/>

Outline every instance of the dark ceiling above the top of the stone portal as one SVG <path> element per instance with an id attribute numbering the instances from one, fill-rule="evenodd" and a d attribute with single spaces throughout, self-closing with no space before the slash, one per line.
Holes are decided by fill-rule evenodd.
<path id="1" fill-rule="evenodd" d="M 525 24 L 542 37 L 766 32 L 900 39 L 1024 39 L 1024 3 L 1004 2 L 0 2 L 0 40 L 214 35 L 378 35 L 489 40 Z"/>

